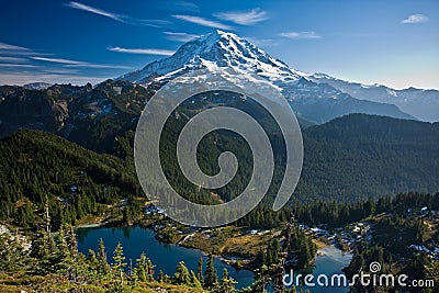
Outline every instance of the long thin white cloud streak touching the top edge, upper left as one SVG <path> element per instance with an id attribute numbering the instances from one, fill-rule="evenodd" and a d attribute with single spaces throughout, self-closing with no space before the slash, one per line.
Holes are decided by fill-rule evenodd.
<path id="1" fill-rule="evenodd" d="M 93 8 L 93 7 L 86 5 L 86 4 L 82 4 L 79 2 L 75 2 L 75 1 L 68 2 L 68 3 L 66 3 L 66 5 L 69 8 L 87 11 L 90 13 L 94 13 L 94 14 L 98 14 L 101 16 L 105 16 L 105 18 L 109 18 L 109 19 L 112 19 L 112 20 L 115 20 L 115 21 L 119 21 L 122 23 L 132 24 L 132 25 L 160 27 L 161 25 L 169 23 L 167 21 L 161 21 L 161 20 L 140 20 L 140 19 L 132 18 L 132 16 L 128 16 L 125 14 L 109 12 L 103 9 Z"/>

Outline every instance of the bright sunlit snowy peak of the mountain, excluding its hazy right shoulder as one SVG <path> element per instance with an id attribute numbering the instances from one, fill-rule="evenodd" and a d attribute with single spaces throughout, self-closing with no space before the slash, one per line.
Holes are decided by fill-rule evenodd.
<path id="1" fill-rule="evenodd" d="M 191 69 L 218 67 L 256 74 L 273 83 L 296 81 L 304 76 L 236 34 L 216 30 L 183 44 L 172 56 L 148 64 L 142 70 L 120 79 L 148 83 Z"/>

